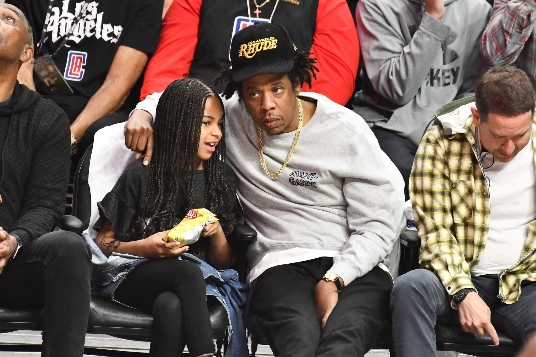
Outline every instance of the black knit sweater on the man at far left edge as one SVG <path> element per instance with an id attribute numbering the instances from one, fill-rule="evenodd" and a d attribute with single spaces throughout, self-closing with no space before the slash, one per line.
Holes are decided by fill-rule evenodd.
<path id="1" fill-rule="evenodd" d="M 65 112 L 17 82 L 0 108 L 0 226 L 23 245 L 52 231 L 63 213 L 70 147 Z"/>

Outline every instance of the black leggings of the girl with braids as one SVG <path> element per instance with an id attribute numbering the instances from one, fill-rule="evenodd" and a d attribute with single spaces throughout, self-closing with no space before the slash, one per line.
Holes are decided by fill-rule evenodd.
<path id="1" fill-rule="evenodd" d="M 153 314 L 150 356 L 214 353 L 201 269 L 177 259 L 151 259 L 132 269 L 114 299 Z"/>

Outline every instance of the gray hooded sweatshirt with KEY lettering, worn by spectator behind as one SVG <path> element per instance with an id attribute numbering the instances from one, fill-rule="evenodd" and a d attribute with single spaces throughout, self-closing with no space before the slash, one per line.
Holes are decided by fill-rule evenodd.
<path id="1" fill-rule="evenodd" d="M 366 79 L 353 109 L 369 125 L 416 144 L 434 112 L 474 92 L 487 68 L 480 37 L 491 6 L 486 0 L 444 3 L 441 21 L 425 12 L 422 0 L 361 0 L 356 10 Z"/>

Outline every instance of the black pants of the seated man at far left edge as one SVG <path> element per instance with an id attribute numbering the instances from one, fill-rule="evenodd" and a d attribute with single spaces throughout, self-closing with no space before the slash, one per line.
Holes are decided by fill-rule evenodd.
<path id="1" fill-rule="evenodd" d="M 91 269 L 84 240 L 56 231 L 23 246 L 0 274 L 0 305 L 43 307 L 42 356 L 84 354 Z"/>

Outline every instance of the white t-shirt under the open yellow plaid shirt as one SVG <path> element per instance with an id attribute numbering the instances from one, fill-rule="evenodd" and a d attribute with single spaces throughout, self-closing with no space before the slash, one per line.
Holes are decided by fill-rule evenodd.
<path id="1" fill-rule="evenodd" d="M 480 143 L 480 139 L 477 140 Z M 486 167 L 486 162 L 482 164 Z M 502 163 L 495 160 L 484 172 L 490 181 L 491 219 L 486 247 L 479 263 L 471 271 L 473 275 L 500 274 L 521 259 L 528 224 L 536 219 L 532 141 L 512 161 Z"/>

